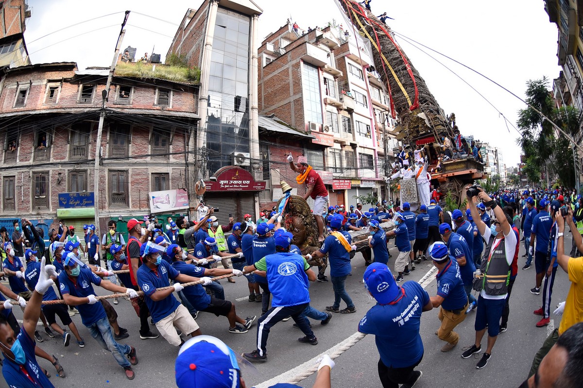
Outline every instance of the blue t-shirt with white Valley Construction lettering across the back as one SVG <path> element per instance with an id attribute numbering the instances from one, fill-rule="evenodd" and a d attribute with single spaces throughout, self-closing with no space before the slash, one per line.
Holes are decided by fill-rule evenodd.
<path id="1" fill-rule="evenodd" d="M 423 356 L 419 325 L 429 294 L 417 282 L 403 283 L 400 300 L 375 304 L 359 323 L 359 332 L 374 334 L 382 363 L 389 368 L 406 368 Z"/>

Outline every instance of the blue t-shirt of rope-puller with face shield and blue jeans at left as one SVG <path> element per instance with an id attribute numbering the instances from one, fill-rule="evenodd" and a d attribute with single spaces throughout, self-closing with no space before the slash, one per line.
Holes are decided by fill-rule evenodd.
<path id="1" fill-rule="evenodd" d="M 92 284 L 99 286 L 101 277 L 95 275 L 89 268 L 81 268 L 79 276 L 68 276 L 65 271 L 59 274 L 59 287 L 61 294 L 70 294 L 74 297 L 86 298 L 90 295 L 96 295 Z M 80 304 L 75 306 L 79 310 L 81 321 L 85 326 L 91 326 L 100 319 L 107 318 L 103 305 L 98 301 L 94 304 Z"/>

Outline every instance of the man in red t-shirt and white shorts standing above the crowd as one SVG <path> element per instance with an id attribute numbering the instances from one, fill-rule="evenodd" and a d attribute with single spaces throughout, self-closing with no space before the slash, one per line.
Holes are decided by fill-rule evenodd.
<path id="1" fill-rule="evenodd" d="M 324 181 L 319 176 L 317 172 L 312 170 L 311 166 L 308 165 L 308 158 L 305 156 L 299 156 L 297 158 L 297 165 L 293 162 L 293 156 L 289 154 L 287 156 L 287 161 L 290 163 L 290 168 L 295 172 L 300 173 L 297 177 L 298 184 L 304 184 L 306 191 L 304 194 L 304 200 L 308 197 L 312 197 L 314 200 L 314 218 L 318 224 L 318 241 L 324 241 L 324 215 L 326 214 L 326 208 L 328 208 L 328 190 L 324 186 Z M 309 170 L 309 171 L 308 171 Z"/>

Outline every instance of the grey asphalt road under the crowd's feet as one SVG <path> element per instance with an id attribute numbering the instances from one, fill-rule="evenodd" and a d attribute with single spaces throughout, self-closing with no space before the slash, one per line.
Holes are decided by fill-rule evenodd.
<path id="1" fill-rule="evenodd" d="M 566 233 L 566 247 L 570 250 L 570 233 Z M 390 251 L 393 255 L 389 259 L 389 266 L 392 268 L 396 258 L 396 248 L 393 243 L 389 243 Z M 524 254 L 524 246 L 521 247 L 520 255 Z M 498 336 L 496 346 L 494 346 L 492 358 L 484 369 L 476 369 L 475 364 L 478 359 L 461 358 L 462 348 L 470 346 L 475 338 L 473 329 L 475 312 L 470 312 L 464 322 L 457 328 L 460 335 L 459 344 L 454 350 L 448 353 L 440 351 L 444 344 L 434 335 L 439 326 L 437 319 L 437 309 L 425 312 L 422 317 L 421 336 L 425 347 L 423 361 L 418 369 L 423 371 L 423 377 L 416 387 L 518 387 L 528 375 L 533 355 L 543 343 L 554 326 L 558 326 L 560 317 L 552 315 L 552 324 L 546 328 L 536 328 L 539 316 L 533 315 L 533 310 L 542 304 L 542 295 L 535 296 L 529 292 L 535 283 L 534 266 L 528 270 L 521 270 L 524 265 L 523 258 L 519 257 L 519 270 L 517 281 L 511 296 L 510 321 L 508 330 Z M 264 364 L 255 364 L 257 371 L 247 373 L 244 376 L 247 386 L 257 386 L 258 388 L 269 386 L 275 382 L 265 384 L 270 379 L 276 378 L 291 369 L 297 368 L 301 364 L 325 353 L 329 348 L 338 343 L 342 343 L 357 331 L 360 319 L 366 314 L 368 308 L 373 306 L 373 301 L 367 297 L 366 290 L 362 283 L 362 275 L 365 269 L 364 259 L 360 254 L 352 260 L 353 272 L 347 279 L 347 290 L 353 298 L 357 307 L 355 314 L 335 314 L 328 326 L 321 326 L 318 322 L 312 321 L 312 329 L 318 337 L 318 345 L 302 344 L 297 341 L 303 333 L 292 327 L 293 320 L 280 322 L 274 326 L 269 335 L 268 341 L 268 361 Z M 429 261 L 417 265 L 417 269 L 405 280 L 419 280 L 432 268 Z M 436 282 L 433 280 L 426 286 L 430 295 L 436 293 Z M 248 302 L 246 282 L 244 279 L 237 279 L 236 284 L 222 284 L 225 289 L 226 298 L 235 301 L 237 298 L 245 298 L 236 301 L 237 313 L 245 318 L 248 315 L 261 314 L 261 304 Z M 557 277 L 554 283 L 552 309 L 560 301 L 567 297 L 570 283 L 567 274 L 560 268 L 557 270 Z M 99 288 L 99 287 L 97 287 Z M 99 294 L 106 294 L 103 289 Z M 324 310 L 326 305 L 331 305 L 333 292 L 331 283 L 313 283 L 310 287 L 311 305 Z M 44 332 L 41 334 L 45 340 L 39 345 L 48 353 L 55 354 L 59 358 L 66 372 L 66 378 L 55 377 L 54 367 L 48 361 L 41 359 L 40 365 L 51 372 L 51 382 L 56 387 L 173 387 L 174 385 L 174 360 L 178 354 L 178 349 L 170 346 L 162 337 L 154 340 L 139 339 L 139 319 L 135 315 L 134 309 L 128 301 L 120 300 L 120 304 L 114 306 L 118 312 L 120 325 L 129 330 L 130 336 L 122 340 L 121 343 L 131 344 L 136 347 L 139 364 L 134 366 L 136 377 L 129 381 L 125 378 L 123 369 L 117 365 L 114 358 L 108 352 L 102 350 L 90 337 L 85 326 L 82 325 L 79 315 L 73 318 L 79 332 L 85 339 L 85 348 L 79 348 L 74 341 L 69 347 L 62 346 L 61 339 L 55 337 L 50 339 Z M 342 308 L 342 307 L 341 307 Z M 14 309 L 17 319 L 22 319 L 20 309 Z M 255 348 L 257 336 L 257 326 L 246 334 L 231 334 L 228 331 L 227 319 L 216 317 L 215 315 L 201 313 L 196 319 L 204 334 L 216 336 L 228 344 L 237 353 L 252 351 Z M 152 330 L 156 332 L 153 326 Z M 483 346 L 486 339 L 482 341 Z M 336 360 L 336 366 L 332 371 L 333 387 L 380 387 L 380 380 L 377 373 L 378 351 L 374 344 L 373 336 L 367 336 L 354 345 L 345 354 Z M 300 371 L 303 368 L 298 368 Z M 289 373 L 288 373 L 289 374 Z M 314 383 L 314 376 L 305 379 L 300 386 L 311 387 Z M 281 380 L 285 382 L 285 378 Z M 5 381 L 0 380 L 0 386 L 6 386 Z"/>

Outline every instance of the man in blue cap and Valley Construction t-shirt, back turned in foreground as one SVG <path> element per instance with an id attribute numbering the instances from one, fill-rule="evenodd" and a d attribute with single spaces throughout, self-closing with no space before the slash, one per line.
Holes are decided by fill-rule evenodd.
<path id="1" fill-rule="evenodd" d="M 375 336 L 381 384 L 412 387 L 422 375 L 414 369 L 423 359 L 419 326 L 421 313 L 433 308 L 429 294 L 413 281 L 399 287 L 391 270 L 381 263 L 369 265 L 363 280 L 377 304 L 360 320 L 359 332 Z"/>

